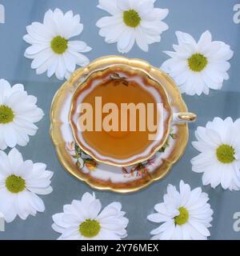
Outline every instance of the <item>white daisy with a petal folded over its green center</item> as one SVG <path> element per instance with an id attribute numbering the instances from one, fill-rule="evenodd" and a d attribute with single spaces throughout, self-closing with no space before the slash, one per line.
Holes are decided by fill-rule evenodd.
<path id="1" fill-rule="evenodd" d="M 210 209 L 208 194 L 201 187 L 190 190 L 180 182 L 180 192 L 175 186 L 167 186 L 163 202 L 154 206 L 157 211 L 147 218 L 151 222 L 163 222 L 150 234 L 154 240 L 205 240 L 210 236 L 213 210 Z"/>

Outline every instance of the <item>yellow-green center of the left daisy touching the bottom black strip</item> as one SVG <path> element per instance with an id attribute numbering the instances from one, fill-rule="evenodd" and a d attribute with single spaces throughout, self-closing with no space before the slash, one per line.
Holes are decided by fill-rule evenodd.
<path id="1" fill-rule="evenodd" d="M 101 230 L 101 226 L 98 221 L 94 219 L 86 219 L 85 222 L 82 222 L 79 225 L 79 232 L 86 238 L 94 238 L 99 231 Z"/>

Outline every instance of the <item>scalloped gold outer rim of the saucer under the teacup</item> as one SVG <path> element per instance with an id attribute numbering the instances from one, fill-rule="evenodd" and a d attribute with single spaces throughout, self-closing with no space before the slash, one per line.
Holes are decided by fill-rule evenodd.
<path id="1" fill-rule="evenodd" d="M 170 167 L 173 166 L 174 163 L 177 162 L 179 158 L 181 158 L 182 154 L 184 153 L 184 150 L 186 149 L 186 145 L 189 138 L 187 124 L 177 125 L 180 137 L 176 139 L 176 146 L 173 152 L 170 154 L 170 157 L 164 159 L 162 165 L 159 166 L 157 170 L 154 170 L 153 173 L 148 174 L 134 182 L 114 183 L 110 181 L 102 182 L 98 179 L 91 177 L 90 174 L 84 174 L 80 170 L 76 170 L 77 167 L 74 165 L 72 159 L 70 159 L 70 157 L 66 158 L 66 143 L 62 141 L 62 136 L 60 134 L 58 127 L 62 124 L 62 122 L 59 122 L 58 118 L 56 118 L 56 114 L 58 114 L 58 100 L 62 97 L 62 91 L 65 89 L 66 86 L 68 86 L 69 84 L 74 84 L 76 82 L 78 83 L 78 79 L 84 75 L 87 75 L 89 71 L 101 69 L 103 66 L 107 67 L 112 64 L 119 63 L 127 63 L 129 65 L 133 65 L 134 67 L 139 68 L 140 70 L 144 70 L 150 73 L 151 77 L 153 77 L 160 83 L 162 82 L 162 85 L 165 86 L 165 89 L 169 90 L 167 91 L 168 94 L 171 91 L 171 94 L 174 97 L 174 102 L 171 102 L 171 104 L 178 106 L 178 110 L 181 112 L 188 112 L 186 104 L 182 99 L 182 95 L 178 90 L 178 86 L 175 85 L 174 81 L 167 74 L 165 74 L 158 68 L 150 66 L 148 62 L 142 61 L 140 59 L 128 59 L 118 56 L 106 56 L 98 58 L 94 60 L 94 62 L 90 62 L 90 65 L 87 66 L 87 68 L 80 68 L 76 70 L 74 74 L 72 74 L 70 80 L 65 82 L 56 92 L 50 109 L 50 137 L 54 143 L 59 162 L 61 162 L 62 166 L 70 174 L 74 175 L 75 178 L 78 178 L 86 182 L 89 186 L 91 186 L 94 189 L 111 190 L 118 193 L 130 193 L 141 190 L 146 186 L 149 186 L 152 182 L 164 178 L 166 174 L 170 171 Z"/>

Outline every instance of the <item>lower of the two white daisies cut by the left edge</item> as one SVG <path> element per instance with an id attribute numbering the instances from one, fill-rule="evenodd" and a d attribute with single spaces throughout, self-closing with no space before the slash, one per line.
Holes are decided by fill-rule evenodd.
<path id="1" fill-rule="evenodd" d="M 15 148 L 8 155 L 0 151 L 0 212 L 6 222 L 12 222 L 17 215 L 26 219 L 44 211 L 44 203 L 37 194 L 52 192 L 52 176 L 45 164 L 23 161 Z"/>

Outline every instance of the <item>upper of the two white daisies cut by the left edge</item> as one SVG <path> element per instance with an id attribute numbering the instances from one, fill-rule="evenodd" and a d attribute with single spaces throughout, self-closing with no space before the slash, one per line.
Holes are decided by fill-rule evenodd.
<path id="1" fill-rule="evenodd" d="M 36 105 L 37 98 L 28 95 L 21 84 L 10 86 L 0 79 L 0 150 L 7 146 L 26 146 L 29 135 L 36 134 L 43 112 Z"/>

